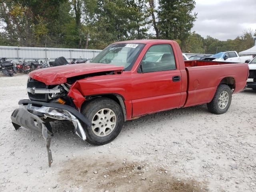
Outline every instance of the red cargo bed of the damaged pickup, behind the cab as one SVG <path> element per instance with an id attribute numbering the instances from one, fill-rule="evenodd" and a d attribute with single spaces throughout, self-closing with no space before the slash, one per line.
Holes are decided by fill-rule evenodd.
<path id="1" fill-rule="evenodd" d="M 248 64 L 216 61 L 185 61 L 188 76 L 187 99 L 184 107 L 208 103 L 213 98 L 217 86 L 224 78 L 236 82 L 234 93 L 246 86 Z"/>

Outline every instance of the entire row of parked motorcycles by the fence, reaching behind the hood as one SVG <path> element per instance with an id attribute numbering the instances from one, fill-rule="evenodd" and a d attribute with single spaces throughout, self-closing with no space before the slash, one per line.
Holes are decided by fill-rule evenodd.
<path id="1" fill-rule="evenodd" d="M 35 59 L 34 61 L 26 61 L 24 58 L 22 61 L 13 62 L 12 60 L 8 61 L 7 58 L 0 59 L 0 72 L 7 76 L 13 76 L 14 73 L 26 73 L 28 74 L 30 71 L 47 68 L 47 67 L 54 67 L 54 66 L 61 66 L 61 65 L 68 65 L 68 64 L 78 64 L 78 63 L 88 63 L 90 59 L 72 59 L 72 62 L 68 62 L 64 57 L 58 57 L 54 61 L 50 61 L 50 58 L 46 58 L 44 62 L 38 61 Z"/>

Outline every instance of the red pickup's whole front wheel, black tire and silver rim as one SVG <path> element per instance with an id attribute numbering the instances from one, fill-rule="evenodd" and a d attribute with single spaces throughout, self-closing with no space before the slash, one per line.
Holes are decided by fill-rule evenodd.
<path id="1" fill-rule="evenodd" d="M 120 105 L 109 98 L 96 98 L 82 108 L 82 114 L 92 123 L 83 124 L 86 141 L 104 145 L 114 140 L 124 125 L 124 115 Z"/>

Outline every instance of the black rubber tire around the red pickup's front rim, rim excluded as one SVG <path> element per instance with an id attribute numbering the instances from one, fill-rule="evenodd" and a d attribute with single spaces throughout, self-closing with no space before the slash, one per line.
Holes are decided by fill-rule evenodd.
<path id="1" fill-rule="evenodd" d="M 87 104 L 82 106 L 81 113 L 86 116 L 90 122 L 92 122 L 94 115 L 96 115 L 99 110 L 104 108 L 108 108 L 116 114 L 116 126 L 107 136 L 97 136 L 94 134 L 91 127 L 83 124 L 86 132 L 86 141 L 90 144 L 104 145 L 111 142 L 118 136 L 124 125 L 124 114 L 122 112 L 122 108 L 117 102 L 109 98 L 96 98 L 89 101 Z"/>

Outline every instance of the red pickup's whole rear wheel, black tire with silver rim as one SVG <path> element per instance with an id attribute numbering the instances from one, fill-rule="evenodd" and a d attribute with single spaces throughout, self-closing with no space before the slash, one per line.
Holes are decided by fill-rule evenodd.
<path id="1" fill-rule="evenodd" d="M 208 111 L 214 114 L 223 114 L 228 111 L 231 104 L 232 92 L 228 85 L 220 84 L 210 103 L 207 104 Z"/>

